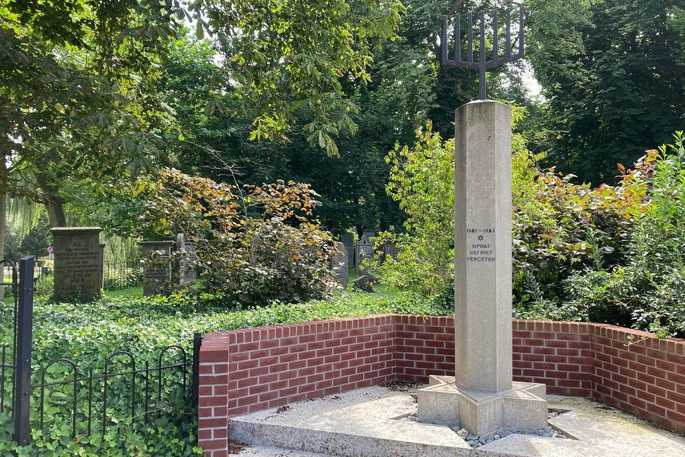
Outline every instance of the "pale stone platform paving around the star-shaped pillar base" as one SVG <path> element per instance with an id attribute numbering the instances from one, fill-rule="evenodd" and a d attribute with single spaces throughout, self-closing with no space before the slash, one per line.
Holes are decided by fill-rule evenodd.
<path id="1" fill-rule="evenodd" d="M 418 386 L 419 388 L 423 386 Z M 416 388 L 374 386 L 229 419 L 242 457 L 682 457 L 685 438 L 579 397 L 549 395 L 569 439 L 512 434 L 471 448 L 446 425 L 409 421 Z M 289 450 L 286 450 L 289 449 Z"/>

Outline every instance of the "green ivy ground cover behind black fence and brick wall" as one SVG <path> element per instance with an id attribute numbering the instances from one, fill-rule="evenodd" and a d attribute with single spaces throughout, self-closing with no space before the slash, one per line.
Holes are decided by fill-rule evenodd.
<path id="1" fill-rule="evenodd" d="M 272 304 L 262 308 L 227 310 L 212 304 L 213 297 L 197 300 L 178 297 L 132 299 L 106 297 L 90 304 L 56 304 L 36 299 L 34 304 L 34 344 L 32 365 L 34 384 L 40 382 L 40 371 L 51 360 L 60 357 L 77 362 L 80 373 L 93 369 L 102 373 L 105 359 L 118 350 L 135 354 L 136 364 L 148 362 L 154 366 L 162 347 L 181 345 L 192 354 L 194 332 L 212 332 L 260 325 L 293 323 L 336 317 L 353 317 L 384 312 L 412 312 L 440 314 L 443 307 L 437 302 L 412 301 L 397 295 L 345 292 L 334 301 L 310 301 L 305 304 Z M 0 340 L 12 339 L 10 305 L 1 310 Z M 449 311 L 449 310 L 448 310 Z M 117 358 L 112 367 L 125 369 L 125 358 Z M 173 362 L 173 360 L 171 360 Z M 62 367 L 62 368 L 60 368 Z M 48 378 L 60 380 L 73 376 L 64 365 L 55 365 Z M 188 372 L 189 373 L 189 372 Z M 151 379 L 152 396 L 158 393 L 157 380 Z M 77 439 L 71 438 L 71 385 L 53 388 L 46 395 L 45 425 L 38 422 L 39 389 L 32 395 L 32 444 L 15 449 L 12 445 L 12 423 L 6 412 L 0 415 L 0 455 L 14 450 L 19 456 L 191 456 L 198 455 L 195 447 L 195 413 L 190 406 L 188 391 L 180 387 L 179 373 L 165 373 L 162 402 L 154 401 L 147 425 L 142 421 L 142 385 L 137 380 L 136 419 L 131 421 L 130 378 L 122 376 L 110 380 L 107 432 L 99 432 L 101 406 L 98 393 L 101 384 L 95 385 L 95 414 L 91 436 L 80 436 L 86 430 L 88 401 L 85 386 L 77 388 L 78 415 Z M 9 383 L 6 382 L 6 387 Z M 155 390 L 157 389 L 157 390 Z"/>

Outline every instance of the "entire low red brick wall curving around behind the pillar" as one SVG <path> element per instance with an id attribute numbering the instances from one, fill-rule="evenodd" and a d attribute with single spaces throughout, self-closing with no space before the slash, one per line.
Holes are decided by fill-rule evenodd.
<path id="1" fill-rule="evenodd" d="M 514 380 L 593 397 L 685 433 L 683 340 L 612 325 L 514 320 L 513 352 Z M 393 379 L 453 375 L 454 318 L 385 314 L 212 333 L 200 373 L 199 445 L 225 457 L 231 415 Z"/>

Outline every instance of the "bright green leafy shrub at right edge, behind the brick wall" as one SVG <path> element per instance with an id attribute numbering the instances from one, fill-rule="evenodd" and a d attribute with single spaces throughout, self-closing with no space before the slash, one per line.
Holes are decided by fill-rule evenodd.
<path id="1" fill-rule="evenodd" d="M 640 204 L 630 208 L 634 228 L 625 243 L 625 265 L 586 269 L 567 286 L 572 303 L 601 293 L 588 319 L 632 323 L 662 336 L 685 336 L 685 146 L 682 132 L 673 145 L 648 151 L 623 185 Z M 586 277 L 597 277 L 588 282 Z M 579 285 L 584 287 L 578 288 Z M 610 307 L 611 312 L 603 312 Z M 603 314 L 600 314 L 603 312 Z"/>

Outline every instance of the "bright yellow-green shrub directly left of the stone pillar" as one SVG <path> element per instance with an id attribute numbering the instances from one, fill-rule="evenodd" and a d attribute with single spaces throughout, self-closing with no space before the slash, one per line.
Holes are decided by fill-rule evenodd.
<path id="1" fill-rule="evenodd" d="M 427 123 L 416 131 L 416 144 L 388 152 L 390 180 L 386 192 L 406 212 L 403 233 L 382 232 L 375 238 L 377 255 L 369 263 L 384 284 L 432 297 L 449 286 L 454 250 L 454 140 L 443 143 Z M 399 247 L 397 260 L 381 262 L 380 246 Z"/>

